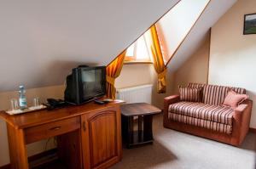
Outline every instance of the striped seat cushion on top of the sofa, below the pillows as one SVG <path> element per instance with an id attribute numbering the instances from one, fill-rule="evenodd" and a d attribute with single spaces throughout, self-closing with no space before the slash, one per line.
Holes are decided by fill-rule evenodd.
<path id="1" fill-rule="evenodd" d="M 186 115 L 201 120 L 213 121 L 232 126 L 234 110 L 228 106 L 195 102 L 177 102 L 169 105 L 169 113 Z"/>

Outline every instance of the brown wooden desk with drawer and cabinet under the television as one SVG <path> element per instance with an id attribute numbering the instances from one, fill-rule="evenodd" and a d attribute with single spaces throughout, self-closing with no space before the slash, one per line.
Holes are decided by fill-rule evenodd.
<path id="1" fill-rule="evenodd" d="M 94 103 L 21 115 L 7 122 L 11 167 L 29 168 L 26 144 L 57 136 L 59 157 L 71 169 L 106 168 L 121 160 L 119 104 Z"/>

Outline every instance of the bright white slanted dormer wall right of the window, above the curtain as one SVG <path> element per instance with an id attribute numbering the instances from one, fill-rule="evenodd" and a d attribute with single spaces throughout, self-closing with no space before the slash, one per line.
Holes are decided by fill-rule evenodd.
<path id="1" fill-rule="evenodd" d="M 167 56 L 170 58 L 187 36 L 209 0 L 183 0 L 157 22 L 165 37 Z"/>

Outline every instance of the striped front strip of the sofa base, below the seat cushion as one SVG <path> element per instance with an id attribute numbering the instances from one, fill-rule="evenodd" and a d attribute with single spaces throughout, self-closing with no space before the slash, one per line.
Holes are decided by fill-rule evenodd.
<path id="1" fill-rule="evenodd" d="M 219 122 L 214 122 L 214 121 L 202 120 L 202 119 L 190 117 L 187 115 L 170 113 L 168 115 L 168 119 L 172 120 L 172 121 L 182 122 L 182 123 L 185 123 L 188 125 L 193 125 L 196 127 L 207 128 L 207 129 L 215 131 L 215 132 L 223 132 L 223 133 L 227 133 L 227 134 L 232 133 L 232 126 L 230 126 L 230 125 L 219 123 Z"/>

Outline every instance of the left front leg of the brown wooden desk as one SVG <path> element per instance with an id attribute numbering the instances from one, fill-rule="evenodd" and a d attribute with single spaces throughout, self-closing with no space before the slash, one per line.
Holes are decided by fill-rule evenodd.
<path id="1" fill-rule="evenodd" d="M 28 169 L 26 143 L 22 129 L 15 129 L 7 124 L 9 157 L 12 169 Z"/>

